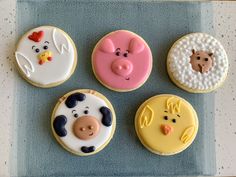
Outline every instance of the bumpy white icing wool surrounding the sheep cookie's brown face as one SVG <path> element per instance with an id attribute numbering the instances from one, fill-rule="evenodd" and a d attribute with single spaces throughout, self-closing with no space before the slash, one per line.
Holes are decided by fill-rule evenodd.
<path id="1" fill-rule="evenodd" d="M 213 66 L 207 73 L 192 69 L 192 49 L 213 53 Z M 204 33 L 188 34 L 178 40 L 169 51 L 168 65 L 176 81 L 194 90 L 216 88 L 224 81 L 228 72 L 228 58 L 223 46 L 214 37 Z"/>

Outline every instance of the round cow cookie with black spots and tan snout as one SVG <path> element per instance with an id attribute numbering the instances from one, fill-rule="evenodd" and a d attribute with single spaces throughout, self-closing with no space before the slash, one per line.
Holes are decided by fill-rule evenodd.
<path id="1" fill-rule="evenodd" d="M 57 141 L 80 156 L 101 151 L 110 142 L 115 126 L 111 103 L 102 94 L 88 89 L 75 90 L 61 97 L 51 117 Z"/>

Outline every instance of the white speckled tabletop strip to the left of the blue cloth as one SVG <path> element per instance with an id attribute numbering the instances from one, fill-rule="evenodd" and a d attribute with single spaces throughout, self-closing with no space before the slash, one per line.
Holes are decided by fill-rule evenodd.
<path id="1" fill-rule="evenodd" d="M 13 139 L 13 88 L 15 72 L 13 68 L 15 46 L 15 1 L 0 2 L 0 176 L 9 176 L 12 161 Z"/>

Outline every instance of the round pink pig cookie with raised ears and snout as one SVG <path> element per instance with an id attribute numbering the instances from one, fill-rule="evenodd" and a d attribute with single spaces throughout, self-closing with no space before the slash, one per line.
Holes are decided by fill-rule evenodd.
<path id="1" fill-rule="evenodd" d="M 118 30 L 107 34 L 92 54 L 93 72 L 107 88 L 119 92 L 135 90 L 148 79 L 152 52 L 137 34 Z"/>

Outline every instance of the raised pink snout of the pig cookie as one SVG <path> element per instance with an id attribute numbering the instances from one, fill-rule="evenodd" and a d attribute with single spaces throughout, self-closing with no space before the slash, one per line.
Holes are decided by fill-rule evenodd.
<path id="1" fill-rule="evenodd" d="M 128 76 L 133 70 L 133 64 L 127 59 L 116 59 L 111 64 L 112 71 L 119 76 Z"/>

